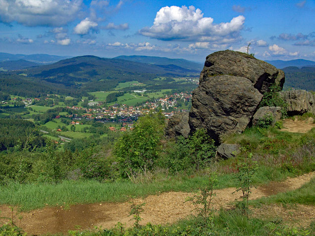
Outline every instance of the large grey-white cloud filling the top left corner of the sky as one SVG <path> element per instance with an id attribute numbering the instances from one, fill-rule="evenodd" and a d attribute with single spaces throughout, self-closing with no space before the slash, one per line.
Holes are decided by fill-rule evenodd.
<path id="1" fill-rule="evenodd" d="M 72 21 L 82 0 L 0 0 L 0 21 L 26 26 L 60 26 Z"/>

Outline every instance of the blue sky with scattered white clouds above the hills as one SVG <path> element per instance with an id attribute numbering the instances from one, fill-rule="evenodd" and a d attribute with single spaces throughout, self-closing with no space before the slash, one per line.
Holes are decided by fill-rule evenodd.
<path id="1" fill-rule="evenodd" d="M 315 0 L 0 0 L 0 52 L 315 61 Z"/>

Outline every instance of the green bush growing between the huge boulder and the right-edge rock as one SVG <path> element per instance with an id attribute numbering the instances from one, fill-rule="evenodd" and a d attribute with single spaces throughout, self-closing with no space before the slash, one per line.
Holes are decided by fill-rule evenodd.
<path id="1" fill-rule="evenodd" d="M 280 106 L 282 117 L 286 117 L 288 104 L 279 94 L 280 91 L 281 87 L 278 84 L 271 85 L 269 87 L 269 91 L 263 94 L 262 101 L 259 106 Z"/>

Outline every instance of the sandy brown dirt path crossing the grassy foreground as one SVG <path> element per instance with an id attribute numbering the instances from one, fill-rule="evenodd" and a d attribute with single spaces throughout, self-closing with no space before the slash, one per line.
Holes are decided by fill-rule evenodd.
<path id="1" fill-rule="evenodd" d="M 309 182 L 312 177 L 315 177 L 315 172 L 297 178 L 288 178 L 284 182 L 273 182 L 268 186 L 260 186 L 257 189 L 253 189 L 251 199 L 298 189 Z M 230 202 L 240 198 L 241 193 L 233 193 L 234 191 L 234 188 L 215 190 L 214 207 L 216 209 L 220 207 L 226 208 Z M 194 211 L 194 207 L 190 202 L 185 203 L 185 199 L 191 195 L 192 193 L 187 192 L 165 192 L 158 195 L 150 195 L 145 199 L 135 199 L 137 203 L 146 202 L 144 212 L 141 215 L 143 218 L 141 223 L 167 224 L 187 217 Z M 0 206 L 0 211 L 2 217 L 10 217 L 11 215 L 11 210 L 8 206 Z M 111 228 L 118 221 L 126 223 L 126 226 L 131 226 L 131 217 L 128 216 L 129 211 L 129 202 L 74 205 L 70 209 L 64 209 L 64 206 L 46 207 L 21 213 L 20 215 L 23 216 L 21 228 L 31 235 L 43 235 L 67 233 L 68 230 L 75 230 L 76 226 L 80 226 L 81 229 L 93 229 L 94 226 Z M 277 212 L 276 208 L 273 211 Z M 303 212 L 305 213 L 303 217 L 314 220 L 315 207 Z M 0 223 L 3 222 L 0 219 Z"/>

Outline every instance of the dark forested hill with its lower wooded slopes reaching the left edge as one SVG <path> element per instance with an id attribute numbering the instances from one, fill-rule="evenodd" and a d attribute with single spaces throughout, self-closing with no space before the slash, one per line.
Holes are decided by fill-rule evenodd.
<path id="1" fill-rule="evenodd" d="M 192 83 L 175 81 L 172 77 L 197 77 L 199 73 L 200 71 L 175 65 L 78 56 L 50 65 L 28 68 L 22 72 L 0 72 L 0 91 L 27 97 L 51 93 L 78 97 L 87 96 L 88 92 L 111 91 L 119 83 L 130 81 L 143 83 L 148 90 L 179 89 L 191 86 Z M 155 80 L 158 77 L 164 78 Z"/>

